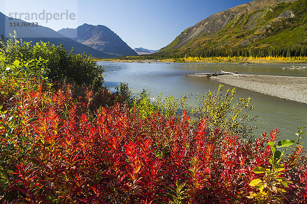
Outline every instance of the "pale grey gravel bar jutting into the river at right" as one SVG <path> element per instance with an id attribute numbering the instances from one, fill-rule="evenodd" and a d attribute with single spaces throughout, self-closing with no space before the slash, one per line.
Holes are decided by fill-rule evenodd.
<path id="1" fill-rule="evenodd" d="M 243 77 L 237 77 L 225 74 L 211 79 L 230 86 L 307 104 L 307 77 L 242 75 Z"/>

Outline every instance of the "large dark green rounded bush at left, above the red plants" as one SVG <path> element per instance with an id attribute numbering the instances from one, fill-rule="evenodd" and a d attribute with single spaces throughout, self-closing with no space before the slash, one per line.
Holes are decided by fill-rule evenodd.
<path id="1" fill-rule="evenodd" d="M 3 72 L 7 65 L 15 60 L 22 64 L 29 63 L 29 71 L 34 75 L 44 75 L 53 81 L 92 86 L 95 90 L 103 84 L 103 69 L 94 58 L 85 54 L 72 54 L 62 45 L 18 41 L 16 33 L 7 42 L 1 42 L 1 67 Z"/>

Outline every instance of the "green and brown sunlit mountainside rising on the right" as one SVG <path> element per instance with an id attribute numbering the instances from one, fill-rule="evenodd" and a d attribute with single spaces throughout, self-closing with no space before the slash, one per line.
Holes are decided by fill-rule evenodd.
<path id="1" fill-rule="evenodd" d="M 306 0 L 255 0 L 196 23 L 159 52 L 306 45 L 306 11 Z"/>

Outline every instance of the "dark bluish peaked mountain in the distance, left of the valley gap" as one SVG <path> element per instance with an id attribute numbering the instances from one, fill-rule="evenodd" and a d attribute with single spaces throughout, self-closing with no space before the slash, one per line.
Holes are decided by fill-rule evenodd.
<path id="1" fill-rule="evenodd" d="M 117 56 L 138 55 L 118 35 L 104 25 L 84 23 L 76 29 L 61 29 L 58 33 L 102 52 Z"/>

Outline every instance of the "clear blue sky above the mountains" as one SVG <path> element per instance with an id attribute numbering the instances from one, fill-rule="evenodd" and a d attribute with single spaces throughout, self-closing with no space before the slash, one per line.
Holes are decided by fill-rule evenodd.
<path id="1" fill-rule="evenodd" d="M 231 7 L 249 0 L 0 0 L 6 3 L 0 11 L 6 15 L 18 12 L 75 12 L 74 21 L 39 22 L 53 30 L 76 28 L 83 23 L 102 24 L 114 31 L 131 48 L 160 49 L 186 28 Z M 4 4 L 1 4 L 4 5 Z"/>

